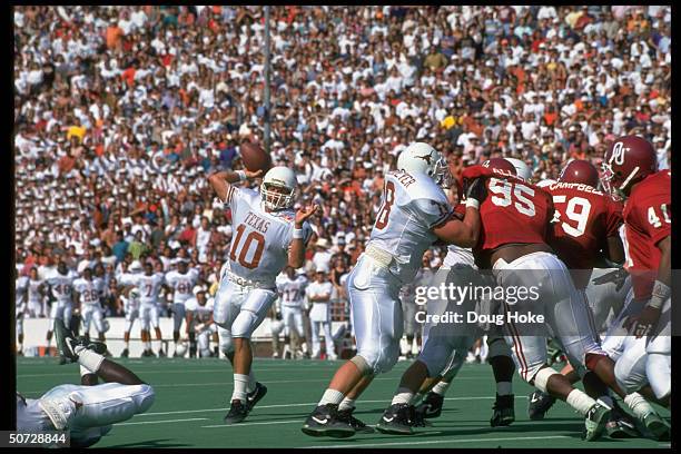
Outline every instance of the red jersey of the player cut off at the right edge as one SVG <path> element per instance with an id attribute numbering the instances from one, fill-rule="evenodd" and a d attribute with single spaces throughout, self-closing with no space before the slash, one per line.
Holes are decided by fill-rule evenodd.
<path id="1" fill-rule="evenodd" d="M 660 265 L 657 245 L 671 235 L 671 172 L 661 170 L 634 186 L 622 214 L 634 296 L 650 298 Z"/>

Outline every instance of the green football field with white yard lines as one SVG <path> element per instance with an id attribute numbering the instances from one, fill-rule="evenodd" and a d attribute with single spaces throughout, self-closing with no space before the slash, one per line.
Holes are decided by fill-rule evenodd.
<path id="1" fill-rule="evenodd" d="M 443 414 L 432 427 L 412 436 L 379 433 L 351 438 L 313 438 L 300 432 L 340 362 L 257 359 L 256 377 L 268 394 L 241 424 L 223 424 L 231 396 L 231 369 L 218 359 L 145 358 L 121 361 L 156 389 L 151 408 L 117 424 L 96 447 L 667 447 L 653 440 L 580 440 L 583 421 L 556 403 L 541 422 L 527 418 L 531 388 L 514 378 L 513 425 L 490 427 L 494 379 L 487 365 L 465 365 L 450 388 Z M 18 358 L 17 387 L 37 398 L 50 387 L 79 383 L 78 365 L 58 366 L 57 358 Z M 355 416 L 375 424 L 389 403 L 409 362 L 378 376 L 365 392 Z M 669 417 L 669 412 L 661 414 Z"/>

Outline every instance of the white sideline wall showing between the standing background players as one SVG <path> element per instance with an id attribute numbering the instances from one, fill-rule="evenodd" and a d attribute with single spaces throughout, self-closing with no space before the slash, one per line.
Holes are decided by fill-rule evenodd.
<path id="1" fill-rule="evenodd" d="M 124 317 L 107 317 L 109 320 L 110 328 L 106 333 L 107 337 L 107 346 L 109 347 L 109 352 L 114 356 L 120 356 L 124 351 L 124 330 L 126 327 L 126 319 Z M 332 323 L 332 333 L 335 333 L 336 329 L 343 325 L 345 322 L 333 322 Z M 251 339 L 256 342 L 269 342 L 272 340 L 272 332 L 269 329 L 270 318 L 265 318 L 260 326 L 253 334 Z M 159 325 L 162 334 L 162 338 L 172 344 L 172 318 L 160 317 Z M 37 352 L 38 347 L 47 346 L 47 330 L 50 326 L 49 318 L 24 318 L 23 320 L 23 353 L 26 356 L 32 356 L 33 351 Z M 142 353 L 142 343 L 139 340 L 139 320 L 135 322 L 132 325 L 132 332 L 130 333 L 130 356 L 139 357 Z M 85 334 L 82 332 L 82 327 L 80 329 L 80 334 Z M 185 337 L 185 324 L 180 327 L 180 338 Z M 93 326 L 90 326 L 90 338 L 97 338 L 97 330 Z M 284 339 L 284 334 L 279 335 L 279 338 Z M 151 329 L 151 346 L 154 351 L 157 351 L 157 342 L 154 329 Z M 55 346 L 55 338 L 52 337 L 52 346 Z M 172 347 L 170 347 L 170 352 L 172 352 Z M 37 354 L 37 353 L 36 353 Z M 220 353 L 220 356 L 223 354 Z"/>

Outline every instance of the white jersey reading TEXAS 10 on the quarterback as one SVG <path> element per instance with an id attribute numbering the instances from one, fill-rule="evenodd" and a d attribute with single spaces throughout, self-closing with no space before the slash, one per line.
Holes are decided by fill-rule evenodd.
<path id="1" fill-rule="evenodd" d="M 293 240 L 293 209 L 266 213 L 260 195 L 230 186 L 226 203 L 231 208 L 234 234 L 229 245 L 229 270 L 237 276 L 275 287 L 276 277 L 288 263 Z M 303 225 L 304 241 L 312 236 Z"/>

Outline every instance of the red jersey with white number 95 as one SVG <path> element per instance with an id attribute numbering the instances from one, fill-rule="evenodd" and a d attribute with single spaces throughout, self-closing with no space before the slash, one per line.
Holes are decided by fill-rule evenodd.
<path id="1" fill-rule="evenodd" d="M 488 268 L 491 253 L 507 244 L 546 243 L 553 218 L 551 195 L 542 188 L 491 169 L 500 178 L 486 181 L 487 197 L 480 206 L 482 227 L 473 248 L 480 267 Z"/>

